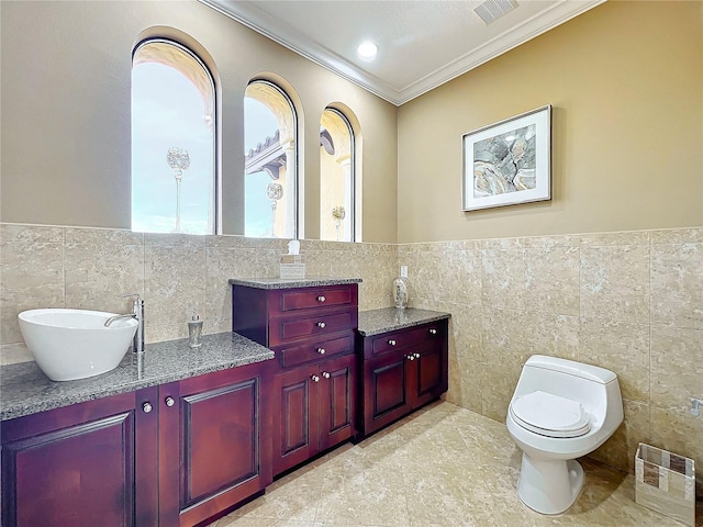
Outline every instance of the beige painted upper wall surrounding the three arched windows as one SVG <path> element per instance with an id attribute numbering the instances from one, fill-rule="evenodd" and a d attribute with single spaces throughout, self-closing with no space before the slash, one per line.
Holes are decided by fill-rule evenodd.
<path id="1" fill-rule="evenodd" d="M 320 116 L 343 103 L 373 145 L 361 161 L 362 239 L 397 240 L 392 104 L 194 0 L 3 1 L 1 16 L 1 221 L 130 227 L 131 54 L 138 40 L 170 27 L 207 49 L 220 82 L 225 233 L 241 223 L 228 204 L 237 201 L 244 172 L 244 90 L 253 77 L 275 72 L 295 90 L 300 112 L 304 237 L 319 232 Z M 156 26 L 167 30 L 150 30 Z"/>

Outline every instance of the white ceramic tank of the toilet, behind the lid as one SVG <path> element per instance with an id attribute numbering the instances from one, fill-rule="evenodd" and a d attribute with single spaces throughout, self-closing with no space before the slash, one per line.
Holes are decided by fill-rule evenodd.
<path id="1" fill-rule="evenodd" d="M 513 399 L 537 390 L 581 403 L 592 425 L 602 423 L 609 405 L 622 414 L 617 375 L 605 368 L 534 355 L 523 367 Z"/>

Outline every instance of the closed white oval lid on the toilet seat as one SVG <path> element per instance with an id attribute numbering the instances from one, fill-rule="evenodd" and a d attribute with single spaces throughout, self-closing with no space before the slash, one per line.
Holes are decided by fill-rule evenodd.
<path id="1" fill-rule="evenodd" d="M 510 412 L 520 426 L 542 436 L 578 437 L 591 429 L 581 404 L 542 391 L 516 397 Z"/>

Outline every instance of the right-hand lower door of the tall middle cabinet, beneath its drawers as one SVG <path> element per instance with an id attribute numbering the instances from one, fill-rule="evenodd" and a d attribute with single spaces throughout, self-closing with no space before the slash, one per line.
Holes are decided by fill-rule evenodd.
<path id="1" fill-rule="evenodd" d="M 356 356 L 320 363 L 320 450 L 354 435 Z"/>

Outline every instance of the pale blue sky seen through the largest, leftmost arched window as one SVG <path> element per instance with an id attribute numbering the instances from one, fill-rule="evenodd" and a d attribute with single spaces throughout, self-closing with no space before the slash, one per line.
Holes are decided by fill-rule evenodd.
<path id="1" fill-rule="evenodd" d="M 132 70 L 132 229 L 176 229 L 176 178 L 166 155 L 188 150 L 180 188 L 180 232 L 213 233 L 214 133 L 194 85 L 177 69 L 142 63 Z"/>

